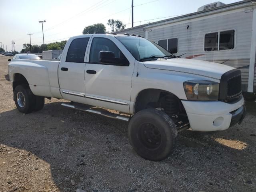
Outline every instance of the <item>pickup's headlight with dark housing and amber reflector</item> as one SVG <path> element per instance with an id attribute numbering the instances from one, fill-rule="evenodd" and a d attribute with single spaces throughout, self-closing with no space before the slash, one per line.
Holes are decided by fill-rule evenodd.
<path id="1" fill-rule="evenodd" d="M 185 81 L 183 86 L 188 100 L 218 100 L 219 83 L 208 80 L 190 80 Z"/>

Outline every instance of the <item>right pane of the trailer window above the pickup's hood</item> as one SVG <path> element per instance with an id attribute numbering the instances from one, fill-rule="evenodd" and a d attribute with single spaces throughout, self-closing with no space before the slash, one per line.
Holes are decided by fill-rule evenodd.
<path id="1" fill-rule="evenodd" d="M 219 50 L 234 49 L 234 36 L 234 30 L 220 32 Z"/>

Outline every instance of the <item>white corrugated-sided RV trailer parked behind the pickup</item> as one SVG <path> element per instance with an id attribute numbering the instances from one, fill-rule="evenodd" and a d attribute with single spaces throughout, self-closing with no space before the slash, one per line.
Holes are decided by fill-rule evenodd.
<path id="1" fill-rule="evenodd" d="M 238 68 L 243 92 L 256 92 L 256 0 L 215 2 L 198 12 L 116 32 L 144 36 L 182 58 Z M 249 94 L 253 95 L 253 94 Z"/>

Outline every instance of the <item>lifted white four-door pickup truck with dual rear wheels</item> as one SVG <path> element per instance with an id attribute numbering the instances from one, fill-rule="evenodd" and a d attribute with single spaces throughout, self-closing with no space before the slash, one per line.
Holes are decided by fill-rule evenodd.
<path id="1" fill-rule="evenodd" d="M 128 121 L 134 150 L 148 160 L 166 158 L 181 130 L 225 130 L 245 116 L 240 70 L 174 58 L 140 36 L 75 36 L 60 61 L 12 59 L 8 70 L 20 112 L 41 110 L 44 98 L 53 97 Z"/>

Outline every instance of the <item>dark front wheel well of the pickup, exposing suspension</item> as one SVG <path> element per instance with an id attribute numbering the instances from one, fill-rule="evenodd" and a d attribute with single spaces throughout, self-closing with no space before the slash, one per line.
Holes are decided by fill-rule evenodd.
<path id="1" fill-rule="evenodd" d="M 134 105 L 134 113 L 146 108 L 159 108 L 163 110 L 175 123 L 188 122 L 186 110 L 180 99 L 171 92 L 160 89 L 142 90 Z"/>

